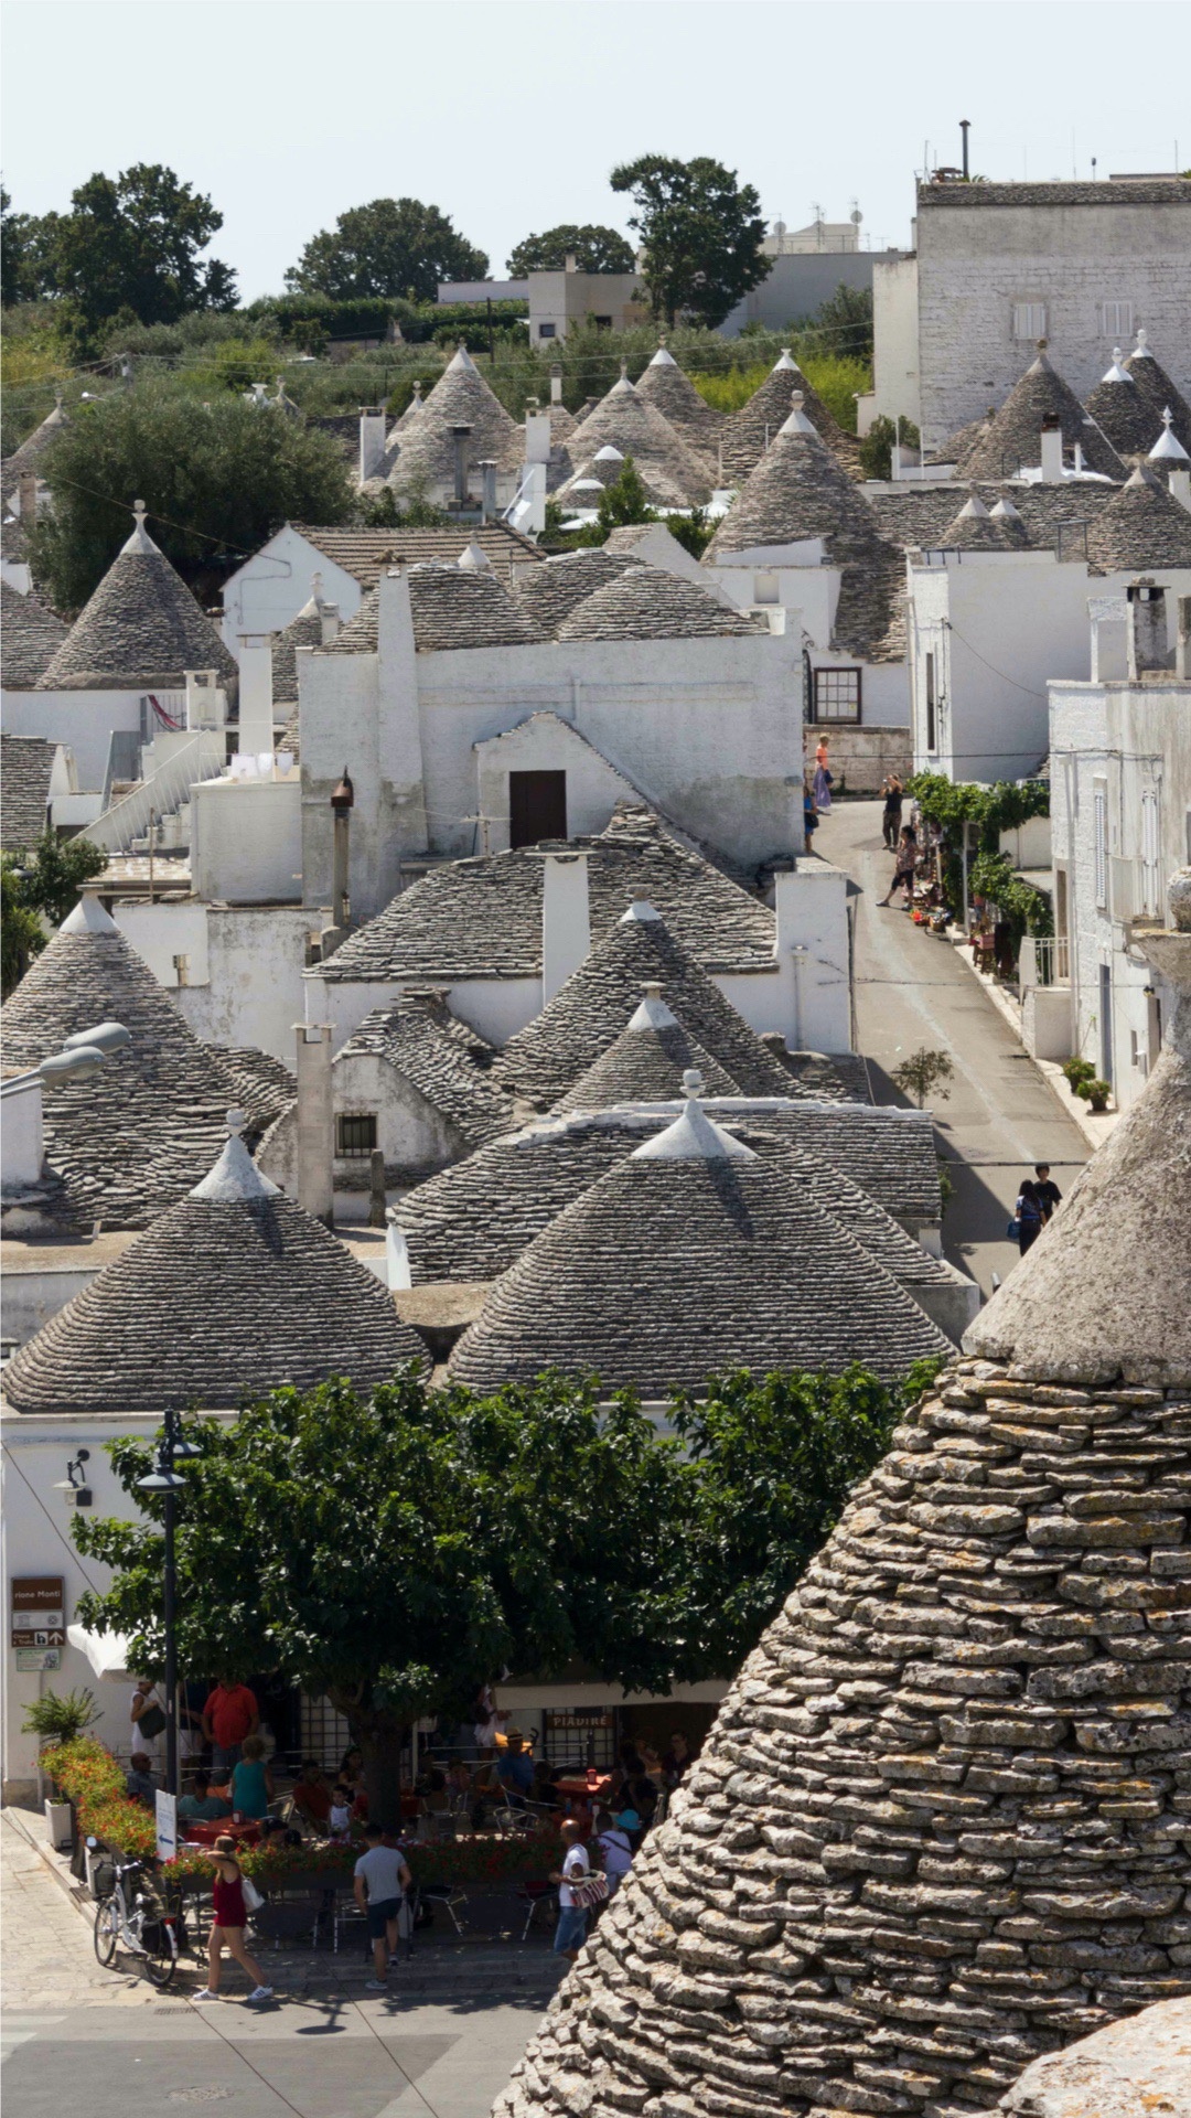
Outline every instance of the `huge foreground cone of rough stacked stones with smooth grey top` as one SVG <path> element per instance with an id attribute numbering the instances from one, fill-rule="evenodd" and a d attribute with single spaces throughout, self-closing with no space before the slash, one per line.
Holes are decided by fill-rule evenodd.
<path id="1" fill-rule="evenodd" d="M 1191 936 L 1159 949 L 1174 1048 L 854 1489 L 500 2118 L 962 2118 L 1189 1991 Z"/>

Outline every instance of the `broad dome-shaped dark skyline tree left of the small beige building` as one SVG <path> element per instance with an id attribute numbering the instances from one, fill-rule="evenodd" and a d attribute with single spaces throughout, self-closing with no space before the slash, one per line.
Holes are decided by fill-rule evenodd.
<path id="1" fill-rule="evenodd" d="M 403 294 L 437 301 L 439 280 L 483 280 L 487 258 L 447 214 L 422 199 L 352 205 L 333 229 L 312 235 L 286 286 L 299 294 Z"/>

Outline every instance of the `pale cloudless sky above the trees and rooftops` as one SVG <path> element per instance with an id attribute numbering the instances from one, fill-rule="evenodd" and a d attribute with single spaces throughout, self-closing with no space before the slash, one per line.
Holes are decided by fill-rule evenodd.
<path id="1" fill-rule="evenodd" d="M 4 0 L 2 59 L 17 210 L 163 161 L 246 301 L 375 197 L 437 203 L 500 275 L 532 231 L 625 229 L 608 169 L 644 152 L 714 155 L 788 227 L 856 203 L 873 248 L 960 119 L 990 178 L 1168 172 L 1178 131 L 1191 165 L 1183 0 Z"/>

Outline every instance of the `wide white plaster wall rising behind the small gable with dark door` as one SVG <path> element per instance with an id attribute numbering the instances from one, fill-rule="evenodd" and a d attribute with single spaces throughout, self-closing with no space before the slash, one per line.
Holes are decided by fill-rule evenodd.
<path id="1" fill-rule="evenodd" d="M 553 716 L 691 837 L 748 864 L 801 851 L 797 635 L 415 652 L 407 576 L 392 568 L 379 580 L 377 652 L 314 650 L 301 661 L 305 900 L 324 902 L 331 890 L 331 790 L 343 765 L 356 786 L 358 923 L 396 894 L 405 856 L 460 858 L 481 845 L 479 777 L 492 752 L 479 746 L 532 716 L 526 756 L 534 743 L 557 748 Z M 589 794 L 587 767 L 581 779 Z M 612 798 L 600 822 L 610 813 Z"/>

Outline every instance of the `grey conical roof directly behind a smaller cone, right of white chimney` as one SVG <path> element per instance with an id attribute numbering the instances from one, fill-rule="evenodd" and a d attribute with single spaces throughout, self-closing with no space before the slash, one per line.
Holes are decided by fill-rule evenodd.
<path id="1" fill-rule="evenodd" d="M 642 985 L 653 983 L 746 1095 L 790 1093 L 786 1070 L 653 904 L 623 913 L 543 1012 L 509 1040 L 494 1072 L 513 1095 L 549 1110 L 612 1044 L 636 1015 Z"/>

